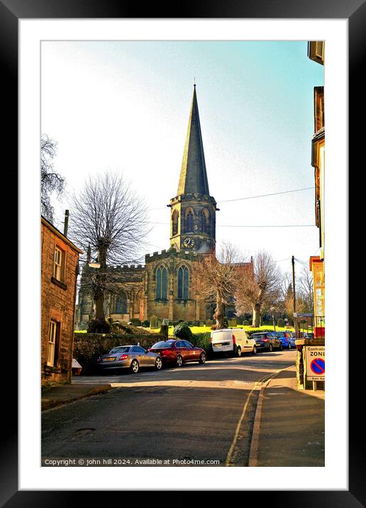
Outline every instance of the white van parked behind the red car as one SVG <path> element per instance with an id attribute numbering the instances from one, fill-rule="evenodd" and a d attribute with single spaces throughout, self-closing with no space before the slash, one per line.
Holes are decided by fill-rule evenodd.
<path id="1" fill-rule="evenodd" d="M 214 353 L 229 353 L 241 356 L 243 353 L 257 353 L 255 340 L 242 328 L 222 328 L 211 331 L 211 347 Z"/>

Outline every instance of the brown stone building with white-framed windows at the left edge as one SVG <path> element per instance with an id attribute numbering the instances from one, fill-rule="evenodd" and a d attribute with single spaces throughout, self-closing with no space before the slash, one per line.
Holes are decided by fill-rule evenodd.
<path id="1" fill-rule="evenodd" d="M 41 382 L 70 382 L 79 250 L 41 217 Z"/>

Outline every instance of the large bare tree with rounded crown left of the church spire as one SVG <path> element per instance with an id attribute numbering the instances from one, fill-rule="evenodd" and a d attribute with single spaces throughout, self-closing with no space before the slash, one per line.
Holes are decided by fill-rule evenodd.
<path id="1" fill-rule="evenodd" d="M 136 263 L 147 233 L 146 206 L 121 175 L 89 177 L 82 192 L 72 197 L 70 236 L 100 264 L 84 268 L 80 288 L 91 293 L 96 319 L 105 319 L 106 297 L 120 293 L 128 282 L 128 273 L 115 266 Z"/>

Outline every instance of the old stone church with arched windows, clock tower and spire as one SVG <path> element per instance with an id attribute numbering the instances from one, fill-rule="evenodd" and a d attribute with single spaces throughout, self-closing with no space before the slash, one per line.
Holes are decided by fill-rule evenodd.
<path id="1" fill-rule="evenodd" d="M 106 316 L 118 321 L 206 321 L 214 309 L 197 290 L 194 267 L 215 250 L 216 201 L 210 196 L 202 143 L 196 85 L 176 195 L 170 199 L 170 248 L 145 255 L 145 266 L 118 266 L 123 290 L 106 301 Z M 93 316 L 90 295 L 79 294 L 76 326 L 87 328 Z"/>

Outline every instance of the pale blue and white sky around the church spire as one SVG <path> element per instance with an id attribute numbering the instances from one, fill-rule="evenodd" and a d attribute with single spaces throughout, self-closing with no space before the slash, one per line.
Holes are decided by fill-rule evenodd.
<path id="1" fill-rule="evenodd" d="M 149 211 L 142 260 L 169 248 L 194 80 L 218 248 L 267 250 L 283 272 L 294 255 L 301 270 L 318 254 L 309 187 L 323 85 L 306 41 L 44 41 L 41 131 L 57 141 L 55 170 L 67 182 L 52 200 L 55 225 L 63 230 L 70 194 L 89 175 L 121 172 Z M 306 190 L 258 197 L 296 189 Z"/>

